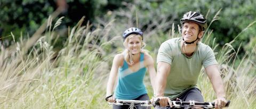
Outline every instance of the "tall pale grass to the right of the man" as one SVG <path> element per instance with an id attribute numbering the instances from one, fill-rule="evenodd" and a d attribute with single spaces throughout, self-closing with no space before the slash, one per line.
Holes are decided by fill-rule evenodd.
<path id="1" fill-rule="evenodd" d="M 218 12 L 219 13 L 219 12 Z M 214 16 L 213 20 L 218 17 Z M 252 22 L 244 30 L 250 28 Z M 245 31 L 241 32 L 245 32 Z M 215 50 L 218 45 L 215 45 L 215 39 L 210 38 L 212 31 L 205 33 L 206 39 L 204 43 L 211 45 Z M 239 33 L 241 34 L 241 33 Z M 239 35 L 238 34 L 238 35 Z M 210 40 L 213 39 L 213 42 Z M 236 50 L 231 45 L 233 41 L 225 44 L 222 49 L 216 53 L 217 61 L 219 63 L 219 70 L 223 82 L 225 83 L 227 99 L 231 100 L 229 108 L 255 108 L 256 104 L 256 67 L 252 59 L 255 58 L 256 51 L 246 52 L 243 58 L 239 58 L 236 51 L 239 51 L 241 46 Z M 205 72 L 202 70 L 202 72 Z M 215 93 L 213 91 L 210 80 L 205 73 L 202 73 L 198 79 L 198 87 L 202 89 L 202 93 L 206 101 L 215 99 Z"/>

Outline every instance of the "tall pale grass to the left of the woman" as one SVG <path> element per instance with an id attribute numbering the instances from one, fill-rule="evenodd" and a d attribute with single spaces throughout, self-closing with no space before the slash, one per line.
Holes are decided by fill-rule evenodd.
<path id="1" fill-rule="evenodd" d="M 62 19 L 62 18 L 61 18 Z M 65 46 L 53 51 L 53 30 L 36 41 L 29 53 L 17 42 L 16 49 L 1 49 L 0 108 L 101 108 L 108 72 L 108 56 L 102 56 L 106 40 L 93 44 L 106 28 L 90 30 L 83 19 L 69 31 Z M 51 23 L 51 22 L 49 22 Z M 22 42 L 27 43 L 27 42 Z M 100 104 L 102 102 L 102 104 Z"/>

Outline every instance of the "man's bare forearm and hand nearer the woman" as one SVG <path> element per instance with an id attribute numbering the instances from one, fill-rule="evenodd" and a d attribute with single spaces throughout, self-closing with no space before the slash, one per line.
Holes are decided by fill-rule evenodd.
<path id="1" fill-rule="evenodd" d="M 167 77 L 170 73 L 171 65 L 165 62 L 157 63 L 157 74 L 156 74 L 156 83 L 155 83 L 155 97 L 159 98 L 159 104 L 162 107 L 165 107 L 170 99 L 168 97 L 164 97 L 164 90 L 166 87 Z M 171 103 L 169 103 L 171 104 Z"/>

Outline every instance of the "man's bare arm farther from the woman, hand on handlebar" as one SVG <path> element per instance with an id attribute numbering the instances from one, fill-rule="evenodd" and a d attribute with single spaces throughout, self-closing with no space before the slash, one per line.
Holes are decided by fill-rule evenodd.
<path id="1" fill-rule="evenodd" d="M 225 95 L 225 88 L 220 77 L 220 72 L 218 70 L 218 65 L 214 64 L 207 66 L 205 71 L 212 83 L 215 93 L 217 94 L 217 99 L 215 100 L 215 108 L 223 108 L 226 105 L 227 100 Z"/>

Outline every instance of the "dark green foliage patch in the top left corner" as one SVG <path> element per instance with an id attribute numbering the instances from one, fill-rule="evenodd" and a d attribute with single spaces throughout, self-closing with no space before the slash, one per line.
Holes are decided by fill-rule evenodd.
<path id="1" fill-rule="evenodd" d="M 1 36 L 10 35 L 11 31 L 17 36 L 20 35 L 17 32 L 23 32 L 25 35 L 27 32 L 35 32 L 45 18 L 54 11 L 54 7 L 51 5 L 51 2 L 42 0 L 1 1 L 0 28 L 4 29 Z M 15 31 L 19 28 L 20 30 Z"/>

